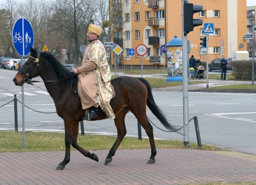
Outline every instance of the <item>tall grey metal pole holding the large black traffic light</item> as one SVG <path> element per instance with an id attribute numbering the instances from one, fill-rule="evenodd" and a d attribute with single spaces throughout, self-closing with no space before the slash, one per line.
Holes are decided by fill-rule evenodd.
<path id="1" fill-rule="evenodd" d="M 189 147 L 188 129 L 188 86 L 187 86 L 187 33 L 184 32 L 184 2 L 182 0 L 182 80 L 183 80 L 183 126 L 184 126 L 184 145 Z M 186 1 L 187 2 L 187 1 Z"/>

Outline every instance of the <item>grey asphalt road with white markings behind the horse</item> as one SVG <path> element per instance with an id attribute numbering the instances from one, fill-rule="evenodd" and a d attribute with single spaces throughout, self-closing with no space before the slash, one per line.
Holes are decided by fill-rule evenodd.
<path id="1" fill-rule="evenodd" d="M 21 101 L 21 88 L 15 86 L 12 78 L 17 71 L 0 69 L 0 106 L 13 99 Z M 40 78 L 35 80 L 41 80 Z M 25 84 L 24 104 L 41 112 L 55 112 L 55 106 L 44 84 L 39 82 L 37 88 Z M 183 126 L 183 94 L 180 91 L 153 91 L 154 99 L 172 125 Z M 189 92 L 189 119 L 197 116 L 202 144 L 215 145 L 238 152 L 256 155 L 256 93 L 205 93 Z M 149 119 L 164 129 L 156 117 L 147 111 Z M 0 108 L 0 130 L 14 129 L 13 102 Z M 38 113 L 25 108 L 25 129 L 63 132 L 63 120 L 57 114 Z M 137 136 L 137 120 L 132 113 L 126 115 L 128 136 Z M 84 121 L 85 133 L 116 135 L 113 120 Z M 22 129 L 22 109 L 18 103 L 18 126 Z M 153 126 L 154 127 L 154 126 Z M 146 137 L 142 129 L 143 137 Z M 155 138 L 177 139 L 184 137 L 163 132 L 154 127 Z M 197 142 L 193 120 L 189 123 L 189 141 Z M 64 141 L 63 141 L 64 142 Z"/>

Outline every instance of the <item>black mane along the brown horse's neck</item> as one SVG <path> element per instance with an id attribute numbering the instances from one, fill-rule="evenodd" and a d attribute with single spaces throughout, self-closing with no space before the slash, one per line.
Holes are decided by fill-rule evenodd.
<path id="1" fill-rule="evenodd" d="M 46 58 L 51 64 L 54 70 L 56 71 L 59 79 L 65 79 L 71 77 L 71 73 L 61 62 L 50 52 L 40 52 L 41 56 Z"/>

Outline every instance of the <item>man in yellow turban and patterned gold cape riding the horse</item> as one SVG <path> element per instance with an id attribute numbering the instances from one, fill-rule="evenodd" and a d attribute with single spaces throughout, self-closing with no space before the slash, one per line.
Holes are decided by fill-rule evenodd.
<path id="1" fill-rule="evenodd" d="M 90 24 L 87 30 L 88 44 L 83 55 L 82 66 L 72 70 L 78 74 L 78 94 L 82 108 L 85 110 L 83 119 L 98 117 L 97 107 L 100 106 L 109 119 L 114 119 L 115 114 L 109 104 L 113 92 L 111 89 L 111 71 L 106 57 L 106 49 L 99 36 L 102 29 L 95 24 Z M 86 114 L 87 112 L 87 114 Z"/>

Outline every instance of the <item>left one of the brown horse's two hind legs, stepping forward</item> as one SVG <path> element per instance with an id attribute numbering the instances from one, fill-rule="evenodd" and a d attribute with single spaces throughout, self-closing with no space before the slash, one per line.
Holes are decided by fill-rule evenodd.
<path id="1" fill-rule="evenodd" d="M 124 123 L 124 118 L 127 112 L 128 111 L 119 112 L 115 117 L 115 126 L 117 127 L 117 139 L 113 147 L 109 150 L 108 156 L 104 163 L 105 165 L 111 163 L 112 156 L 115 156 L 117 148 L 119 147 L 120 143 L 122 142 L 122 139 L 124 139 L 124 136 L 126 135 L 127 131 Z"/>

